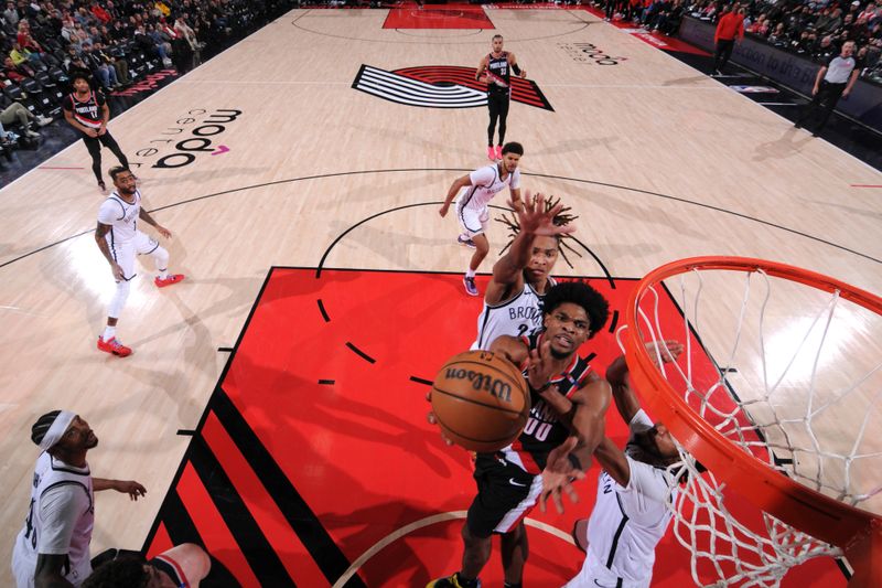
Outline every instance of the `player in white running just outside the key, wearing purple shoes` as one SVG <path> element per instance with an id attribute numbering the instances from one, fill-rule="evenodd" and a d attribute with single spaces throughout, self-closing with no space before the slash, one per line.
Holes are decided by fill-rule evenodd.
<path id="1" fill-rule="evenodd" d="M 462 279 L 465 291 L 470 296 L 477 296 L 475 272 L 490 252 L 490 242 L 487 242 L 487 237 L 484 234 L 490 221 L 487 204 L 493 196 L 508 186 L 512 192 L 514 209 L 520 210 L 521 207 L 520 172 L 517 165 L 523 154 L 524 147 L 520 143 L 505 143 L 501 161 L 454 180 L 450 190 L 448 190 L 444 203 L 438 211 L 442 217 L 447 216 L 450 203 L 453 202 L 454 197 L 456 199 L 456 220 L 462 231 L 458 240 L 475 249 L 469 263 L 465 277 Z"/>

